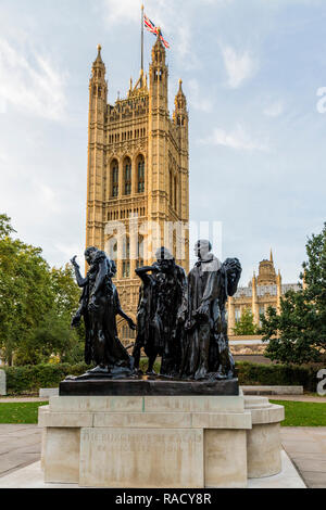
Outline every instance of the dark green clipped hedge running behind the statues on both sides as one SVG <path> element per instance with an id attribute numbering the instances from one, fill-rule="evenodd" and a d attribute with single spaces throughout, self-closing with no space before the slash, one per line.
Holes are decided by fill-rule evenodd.
<path id="1" fill-rule="evenodd" d="M 141 359 L 145 369 L 147 359 Z M 308 365 L 260 365 L 248 361 L 236 364 L 239 383 L 243 385 L 302 385 L 305 391 L 315 392 L 316 373 L 324 366 Z M 66 375 L 80 375 L 89 367 L 78 365 L 35 365 L 25 367 L 4 367 L 7 373 L 7 391 L 9 394 L 35 393 L 40 387 L 58 387 Z M 160 369 L 155 364 L 155 370 Z"/>

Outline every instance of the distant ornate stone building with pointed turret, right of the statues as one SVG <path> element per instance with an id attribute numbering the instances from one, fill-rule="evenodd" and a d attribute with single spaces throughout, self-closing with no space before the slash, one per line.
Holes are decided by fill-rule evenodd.
<path id="1" fill-rule="evenodd" d="M 253 273 L 248 286 L 239 286 L 236 294 L 228 298 L 228 334 L 233 335 L 244 308 L 252 311 L 253 321 L 259 326 L 260 316 L 265 314 L 268 306 L 279 309 L 280 297 L 290 289 L 297 292 L 300 286 L 298 283 L 281 283 L 279 270 L 277 275 L 275 271 L 271 250 L 269 260 L 260 263 L 259 276 Z"/>

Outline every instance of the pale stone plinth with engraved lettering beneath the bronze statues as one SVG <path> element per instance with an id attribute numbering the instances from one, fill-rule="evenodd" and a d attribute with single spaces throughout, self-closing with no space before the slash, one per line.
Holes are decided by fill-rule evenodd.
<path id="1" fill-rule="evenodd" d="M 247 409 L 242 395 L 51 397 L 39 408 L 45 480 L 83 487 L 246 487 L 260 444 L 264 455 L 274 447 L 280 460 L 275 431 L 273 439 L 258 429 L 249 435 L 253 421 L 264 426 L 283 419 L 258 398 Z"/>

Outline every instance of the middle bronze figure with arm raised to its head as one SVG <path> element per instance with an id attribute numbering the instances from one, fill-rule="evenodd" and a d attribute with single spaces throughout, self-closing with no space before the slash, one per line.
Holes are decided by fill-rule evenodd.
<path id="1" fill-rule="evenodd" d="M 140 350 L 143 347 L 149 358 L 147 373 L 154 373 L 154 361 L 161 356 L 160 373 L 176 377 L 181 359 L 186 273 L 164 246 L 155 255 L 156 262 L 152 266 L 136 269 L 142 283 L 139 289 L 138 332 L 133 356 L 135 367 L 139 368 Z"/>

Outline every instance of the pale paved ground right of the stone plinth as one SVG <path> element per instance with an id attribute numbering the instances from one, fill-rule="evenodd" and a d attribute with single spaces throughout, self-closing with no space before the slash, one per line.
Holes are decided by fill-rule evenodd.
<path id="1" fill-rule="evenodd" d="M 326 426 L 281 426 L 281 444 L 310 488 L 326 488 Z"/>

